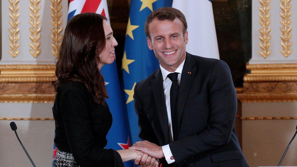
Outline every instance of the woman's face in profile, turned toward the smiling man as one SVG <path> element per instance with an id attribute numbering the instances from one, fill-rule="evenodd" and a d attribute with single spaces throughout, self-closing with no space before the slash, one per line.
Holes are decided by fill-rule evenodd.
<path id="1" fill-rule="evenodd" d="M 99 70 L 104 64 L 111 64 L 115 60 L 114 47 L 117 46 L 117 40 L 113 36 L 113 31 L 106 20 L 103 20 L 103 29 L 105 33 L 105 49 L 99 55 L 100 61 L 98 63 Z"/>

